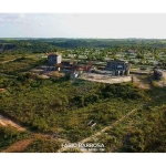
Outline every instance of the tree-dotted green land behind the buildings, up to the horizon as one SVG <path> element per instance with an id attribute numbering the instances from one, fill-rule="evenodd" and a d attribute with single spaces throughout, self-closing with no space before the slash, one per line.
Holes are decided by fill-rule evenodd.
<path id="1" fill-rule="evenodd" d="M 15 56 L 62 52 L 64 59 L 101 61 L 105 59 L 127 60 L 134 66 L 166 66 L 166 41 L 145 39 L 22 39 L 0 40 L 0 61 Z M 147 59 L 146 58 L 151 58 Z M 135 60 L 136 61 L 135 61 Z M 152 60 L 152 61 L 151 61 Z M 154 61 L 153 61 L 154 60 Z"/>

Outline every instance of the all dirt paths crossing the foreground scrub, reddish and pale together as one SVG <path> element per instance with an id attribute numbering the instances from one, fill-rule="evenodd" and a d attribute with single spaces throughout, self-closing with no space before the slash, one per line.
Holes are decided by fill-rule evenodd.
<path id="1" fill-rule="evenodd" d="M 160 96 L 163 96 L 165 94 L 160 94 L 158 96 L 155 96 L 155 98 L 158 98 Z M 80 142 L 77 142 L 76 144 L 83 144 L 83 143 L 86 143 L 86 142 L 90 142 L 91 139 L 102 135 L 104 132 L 106 132 L 107 129 L 111 129 L 113 127 L 115 127 L 116 125 L 118 125 L 121 122 L 123 122 L 125 118 L 127 118 L 131 114 L 133 114 L 134 112 L 136 112 L 137 110 L 142 108 L 144 105 L 146 104 L 142 104 L 139 107 L 137 108 L 134 108 L 129 113 L 127 113 L 126 115 L 124 115 L 122 118 L 117 120 L 115 123 L 113 123 L 112 125 L 110 126 L 106 126 L 104 127 L 103 129 L 101 129 L 100 132 L 95 133 L 94 135 L 91 135 L 90 137 L 86 137 Z M 2 126 L 8 126 L 8 125 L 11 125 L 12 127 L 17 128 L 18 131 L 27 131 L 27 128 L 20 126 L 19 124 L 14 123 L 12 120 L 9 120 L 2 115 L 0 115 L 0 125 Z M 3 151 L 3 153 L 9 153 L 9 152 L 21 152 L 23 151 L 28 145 L 30 145 L 32 143 L 32 141 L 34 138 L 52 138 L 51 135 L 49 134 L 42 134 L 42 133 L 34 133 L 34 132 L 30 132 L 34 137 L 33 138 L 29 138 L 29 139 L 23 139 L 23 141 L 19 141 L 14 144 L 12 144 L 10 147 L 8 147 L 7 149 Z M 69 143 L 69 141 L 66 139 L 61 139 L 61 138 L 56 138 L 58 141 L 60 141 L 61 143 Z M 62 147 L 58 151 L 58 153 L 62 153 L 64 151 L 68 151 L 69 147 Z M 85 148 L 84 149 L 81 149 L 81 148 L 77 148 L 79 151 L 81 152 L 84 152 L 84 153 L 90 153 L 87 152 Z"/>

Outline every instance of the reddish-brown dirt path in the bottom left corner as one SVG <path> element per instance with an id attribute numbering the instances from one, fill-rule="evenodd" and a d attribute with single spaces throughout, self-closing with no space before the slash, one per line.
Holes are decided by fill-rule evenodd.
<path id="1" fill-rule="evenodd" d="M 12 144 L 11 146 L 9 146 L 7 149 L 2 151 L 1 153 L 22 152 L 32 143 L 32 141 L 33 141 L 32 138 L 19 141 Z"/>

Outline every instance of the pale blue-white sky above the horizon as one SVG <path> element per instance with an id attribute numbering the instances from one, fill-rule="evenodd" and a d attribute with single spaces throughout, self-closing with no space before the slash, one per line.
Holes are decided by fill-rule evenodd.
<path id="1" fill-rule="evenodd" d="M 166 39 L 166 14 L 0 13 L 0 38 Z"/>

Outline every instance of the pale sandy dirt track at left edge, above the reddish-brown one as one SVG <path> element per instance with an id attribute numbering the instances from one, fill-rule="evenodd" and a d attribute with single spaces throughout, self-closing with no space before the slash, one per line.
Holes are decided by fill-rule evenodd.
<path id="1" fill-rule="evenodd" d="M 11 121 L 11 120 L 9 120 L 9 118 L 2 116 L 2 115 L 0 115 L 0 124 L 1 124 L 2 126 L 8 126 L 8 125 L 10 125 L 10 126 L 17 128 L 18 131 L 22 131 L 22 132 L 25 131 L 24 127 L 18 125 L 18 124 L 14 123 L 13 121 Z"/>

